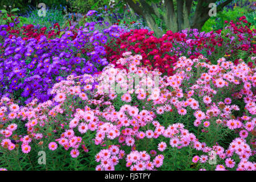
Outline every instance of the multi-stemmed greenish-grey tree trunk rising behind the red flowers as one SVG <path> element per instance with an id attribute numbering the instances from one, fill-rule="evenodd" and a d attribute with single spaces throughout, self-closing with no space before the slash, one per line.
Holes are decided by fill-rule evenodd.
<path id="1" fill-rule="evenodd" d="M 217 0 L 199 0 L 196 6 L 195 14 L 192 18 L 189 18 L 191 14 L 191 7 L 193 0 L 176 0 L 177 1 L 177 12 L 175 13 L 174 1 L 165 0 L 164 9 L 166 14 L 161 16 L 156 5 L 149 5 L 145 0 L 139 0 L 141 6 L 134 3 L 133 0 L 123 0 L 125 1 L 135 13 L 141 15 L 147 22 L 147 26 L 155 32 L 155 35 L 160 37 L 163 31 L 158 28 L 155 22 L 155 17 L 163 19 L 166 24 L 167 30 L 174 32 L 181 31 L 184 28 L 197 28 L 201 30 L 204 23 L 210 18 L 209 16 L 209 3 L 215 3 Z M 226 5 L 228 5 L 232 0 L 226 0 L 221 5 L 217 6 L 217 12 L 221 11 Z M 191 21 L 189 21 L 189 19 Z"/>

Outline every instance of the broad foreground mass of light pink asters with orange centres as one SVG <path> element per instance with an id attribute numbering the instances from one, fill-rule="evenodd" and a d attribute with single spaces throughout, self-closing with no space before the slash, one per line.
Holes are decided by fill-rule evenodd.
<path id="1" fill-rule="evenodd" d="M 223 57 L 217 64 L 205 63 L 203 56 L 179 57 L 175 74 L 162 76 L 157 69 L 142 67 L 141 55 L 122 56 L 117 63 L 126 69 L 109 64 L 98 75 L 68 76 L 51 89 L 53 100 L 37 104 L 34 99 L 20 107 L 3 97 L 1 151 L 29 155 L 46 146 L 82 158 L 93 150 L 96 170 L 117 169 L 122 160 L 130 170 L 155 170 L 164 169 L 169 150 L 176 155 L 184 149 L 200 170 L 255 170 L 250 160 L 255 152 L 255 68 Z M 142 78 L 134 87 L 126 82 L 130 73 Z M 148 73 L 159 76 L 158 86 L 144 77 Z M 131 89 L 114 92 L 106 78 L 121 90 Z M 22 123 L 27 130 L 23 133 Z M 221 141 L 225 136 L 236 137 L 226 145 Z M 211 166 L 208 161 L 213 159 L 217 162 Z"/>

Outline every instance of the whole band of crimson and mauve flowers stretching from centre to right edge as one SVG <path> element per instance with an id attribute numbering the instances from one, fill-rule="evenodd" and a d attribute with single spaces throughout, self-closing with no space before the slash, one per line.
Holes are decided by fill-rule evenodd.
<path id="1" fill-rule="evenodd" d="M 214 61 L 216 56 L 223 53 L 222 56 L 230 57 L 229 60 L 238 64 L 236 55 L 241 50 L 246 52 L 246 56 L 256 53 L 256 30 L 250 30 L 250 23 L 245 16 L 240 18 L 240 22 L 231 21 L 229 24 L 230 26 L 226 25 L 224 30 L 208 33 L 199 32 L 196 29 L 175 33 L 167 31 L 162 38 L 153 36 L 152 31 L 131 30 L 105 46 L 108 51 L 107 56 L 113 64 L 120 67 L 116 61 L 122 53 L 126 51 L 140 53 L 143 57 L 143 65 L 149 69 L 158 68 L 160 72 L 167 75 L 174 74 L 173 67 L 180 56 L 195 59 L 199 55 L 204 55 L 208 58 L 207 61 Z M 251 62 L 249 66 L 252 65 Z"/>

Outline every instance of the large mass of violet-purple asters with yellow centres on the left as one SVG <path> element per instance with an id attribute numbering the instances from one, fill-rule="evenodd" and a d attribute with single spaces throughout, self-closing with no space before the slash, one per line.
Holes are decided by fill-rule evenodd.
<path id="1" fill-rule="evenodd" d="M 11 34 L 14 30 L 9 30 L 10 24 L 1 26 L 0 34 L 6 35 L 0 39 L 1 95 L 9 93 L 16 98 L 29 98 L 26 103 L 32 97 L 46 101 L 51 96 L 52 85 L 71 73 L 98 72 L 108 64 L 103 45 L 109 37 L 118 37 L 121 31 L 116 25 L 95 30 L 101 24 L 90 22 L 78 29 L 71 26 L 56 34 L 54 30 L 49 31 L 46 35 L 46 28 L 37 33 L 34 26 L 28 25 L 22 27 L 21 36 Z M 56 27 L 59 28 L 58 24 Z"/>

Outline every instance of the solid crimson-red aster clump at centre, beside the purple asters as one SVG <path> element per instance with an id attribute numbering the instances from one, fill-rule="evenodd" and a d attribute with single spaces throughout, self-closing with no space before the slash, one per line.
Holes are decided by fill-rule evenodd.
<path id="1" fill-rule="evenodd" d="M 148 68 L 159 68 L 160 71 L 167 71 L 168 74 L 171 75 L 173 69 L 170 65 L 176 62 L 177 55 L 168 54 L 172 48 L 172 43 L 165 42 L 165 40 L 174 39 L 174 36 L 177 39 L 181 39 L 180 36 L 177 35 L 179 33 L 172 34 L 171 31 L 168 31 L 167 36 L 160 39 L 152 34 L 154 34 L 154 32 L 148 32 L 146 29 L 131 30 L 130 32 L 122 34 L 120 38 L 113 39 L 105 46 L 108 59 L 111 63 L 116 64 L 116 61 L 121 57 L 123 52 L 133 51 L 142 55 L 143 64 Z M 121 65 L 117 66 L 121 67 Z"/>

